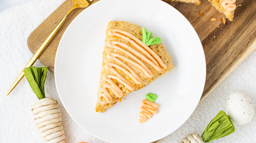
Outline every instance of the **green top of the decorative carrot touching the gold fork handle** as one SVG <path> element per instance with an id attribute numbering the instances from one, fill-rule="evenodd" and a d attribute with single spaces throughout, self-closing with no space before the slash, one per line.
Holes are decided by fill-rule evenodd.
<path id="1" fill-rule="evenodd" d="M 23 70 L 31 89 L 37 95 L 38 99 L 45 98 L 44 82 L 46 79 L 47 66 L 28 67 Z"/>

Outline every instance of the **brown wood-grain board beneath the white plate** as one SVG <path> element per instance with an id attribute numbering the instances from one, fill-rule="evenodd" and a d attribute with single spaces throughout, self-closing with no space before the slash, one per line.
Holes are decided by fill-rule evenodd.
<path id="1" fill-rule="evenodd" d="M 93 3 L 99 0 L 94 0 Z M 170 2 L 195 28 L 202 42 L 207 64 L 207 75 L 201 100 L 256 48 L 256 1 L 237 0 L 233 21 L 224 25 L 219 13 L 207 0 L 201 5 Z M 28 37 L 28 47 L 34 53 L 72 6 L 72 0 L 63 2 Z M 49 43 L 39 60 L 54 74 L 56 50 L 63 32 L 84 9 L 75 10 Z M 203 14 L 199 15 L 199 11 Z M 211 21 L 216 18 L 216 21 Z"/>

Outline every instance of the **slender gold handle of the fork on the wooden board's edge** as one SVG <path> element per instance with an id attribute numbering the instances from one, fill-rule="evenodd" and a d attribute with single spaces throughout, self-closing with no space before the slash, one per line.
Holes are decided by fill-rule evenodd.
<path id="1" fill-rule="evenodd" d="M 43 42 L 43 44 L 39 47 L 39 49 L 35 52 L 35 54 L 33 55 L 33 57 L 29 60 L 28 64 L 25 66 L 26 67 L 30 67 L 32 66 L 35 61 L 37 61 L 37 59 L 40 57 L 40 55 L 43 53 L 44 49 L 47 47 L 47 45 L 52 41 L 54 35 L 58 32 L 58 30 L 60 29 L 60 27 L 62 26 L 62 24 L 65 22 L 65 20 L 68 18 L 68 16 L 70 15 L 70 13 L 73 11 L 73 7 L 72 9 L 64 16 L 64 18 L 59 22 L 59 24 L 54 28 L 54 30 L 52 31 L 52 33 L 45 39 L 45 41 Z M 19 76 L 17 77 L 17 79 L 14 81 L 14 83 L 12 84 L 12 86 L 10 87 L 10 89 L 8 90 L 8 92 L 5 94 L 6 96 L 15 88 L 15 86 L 19 83 L 19 81 L 24 77 L 24 73 L 23 71 L 19 74 Z"/>

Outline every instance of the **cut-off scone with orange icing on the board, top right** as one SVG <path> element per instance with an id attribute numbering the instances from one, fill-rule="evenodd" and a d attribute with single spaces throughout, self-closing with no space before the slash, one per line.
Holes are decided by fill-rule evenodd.
<path id="1" fill-rule="evenodd" d="M 236 0 L 208 0 L 220 13 L 223 13 L 229 21 L 233 21 Z M 224 6 L 224 7 L 223 7 Z"/>

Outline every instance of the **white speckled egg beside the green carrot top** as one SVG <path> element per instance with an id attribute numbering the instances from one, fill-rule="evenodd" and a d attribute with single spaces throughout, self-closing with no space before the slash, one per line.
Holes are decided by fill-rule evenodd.
<path id="1" fill-rule="evenodd" d="M 227 114 L 236 125 L 246 125 L 254 115 L 252 99 L 243 91 L 233 91 L 226 103 Z"/>

